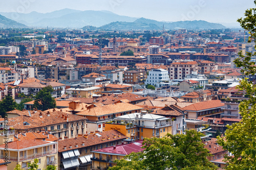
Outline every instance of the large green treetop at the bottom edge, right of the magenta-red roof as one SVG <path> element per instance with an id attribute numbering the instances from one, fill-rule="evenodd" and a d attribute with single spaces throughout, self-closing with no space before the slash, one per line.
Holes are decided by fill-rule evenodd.
<path id="1" fill-rule="evenodd" d="M 202 136 L 200 132 L 189 130 L 186 135 L 167 134 L 162 138 L 145 138 L 144 152 L 116 160 L 117 165 L 109 169 L 217 169 L 206 158 L 211 154 L 204 148 Z"/>

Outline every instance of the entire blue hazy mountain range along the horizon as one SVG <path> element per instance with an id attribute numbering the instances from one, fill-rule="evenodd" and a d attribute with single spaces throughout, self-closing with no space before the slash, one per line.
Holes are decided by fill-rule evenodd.
<path id="1" fill-rule="evenodd" d="M 0 12 L 6 19 L 13 19 L 13 24 L 17 27 L 36 27 L 36 28 L 70 28 L 80 29 L 85 26 L 97 27 L 100 30 L 172 30 L 177 28 L 184 29 L 222 29 L 225 28 L 220 23 L 210 23 L 203 20 L 165 22 L 153 19 L 135 18 L 117 15 L 110 11 L 79 11 L 73 9 L 62 9 L 49 13 L 14 13 Z M 15 22 L 16 21 L 16 22 Z M 17 23 L 19 22 L 19 23 Z M 6 23 L 6 22 L 5 22 Z M 5 25 L 0 21 L 0 26 Z M 9 27 L 9 24 L 6 27 Z"/>

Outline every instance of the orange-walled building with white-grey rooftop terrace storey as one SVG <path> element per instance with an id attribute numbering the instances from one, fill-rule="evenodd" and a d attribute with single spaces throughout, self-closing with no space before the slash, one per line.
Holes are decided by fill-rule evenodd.
<path id="1" fill-rule="evenodd" d="M 172 121 L 164 116 L 141 111 L 118 116 L 105 123 L 105 131 L 114 129 L 135 140 L 161 138 L 172 133 Z"/>

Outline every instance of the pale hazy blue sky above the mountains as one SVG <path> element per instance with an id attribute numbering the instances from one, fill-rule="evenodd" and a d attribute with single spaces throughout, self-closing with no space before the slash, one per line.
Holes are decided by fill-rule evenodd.
<path id="1" fill-rule="evenodd" d="M 236 22 L 253 0 L 0 0 L 0 12 L 41 13 L 64 8 L 108 10 L 119 15 L 159 21 L 206 20 Z"/>

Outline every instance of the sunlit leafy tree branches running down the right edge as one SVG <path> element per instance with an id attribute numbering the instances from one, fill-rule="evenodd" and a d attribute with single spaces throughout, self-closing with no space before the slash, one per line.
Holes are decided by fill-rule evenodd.
<path id="1" fill-rule="evenodd" d="M 256 5 L 256 1 L 254 1 Z M 241 27 L 250 34 L 248 42 L 255 42 L 256 38 L 256 8 L 245 11 L 245 18 L 238 19 Z M 255 46 L 256 47 L 256 46 Z M 255 75 L 255 62 L 251 61 L 255 53 L 239 53 L 239 57 L 234 60 L 237 67 L 242 68 L 245 75 Z M 239 123 L 227 126 L 225 136 L 219 138 L 218 143 L 223 149 L 228 150 L 233 156 L 226 156 L 227 169 L 255 169 L 256 167 L 256 85 L 248 81 L 247 78 L 240 81 L 240 90 L 245 90 L 249 99 L 244 100 L 239 105 L 242 120 Z"/>

